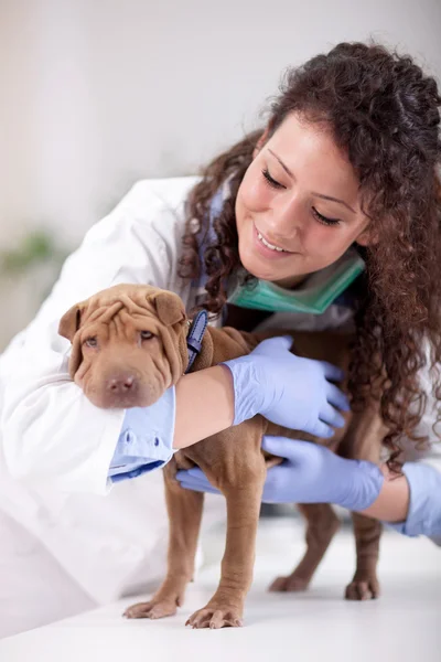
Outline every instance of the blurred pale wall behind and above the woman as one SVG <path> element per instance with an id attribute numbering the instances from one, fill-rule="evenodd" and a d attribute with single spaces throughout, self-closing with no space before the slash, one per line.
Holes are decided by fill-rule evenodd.
<path id="1" fill-rule="evenodd" d="M 282 70 L 340 41 L 441 78 L 440 35 L 440 0 L 0 0 L 0 245 L 44 224 L 75 246 L 135 180 L 194 172 L 254 128 Z"/>

